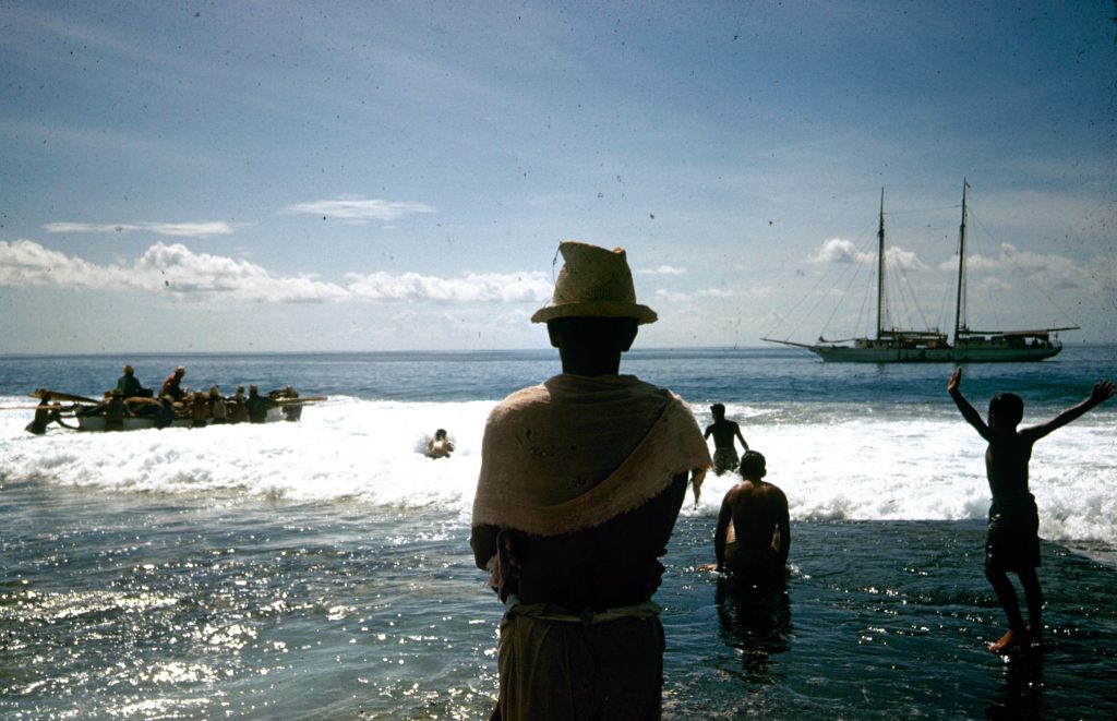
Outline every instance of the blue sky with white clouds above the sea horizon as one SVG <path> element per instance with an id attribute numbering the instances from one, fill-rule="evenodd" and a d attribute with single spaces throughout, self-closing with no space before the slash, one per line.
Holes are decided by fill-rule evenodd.
<path id="1" fill-rule="evenodd" d="M 545 348 L 562 240 L 638 347 L 850 337 L 881 193 L 947 328 L 963 179 L 968 325 L 1114 343 L 1115 15 L 0 0 L 0 354 Z"/>

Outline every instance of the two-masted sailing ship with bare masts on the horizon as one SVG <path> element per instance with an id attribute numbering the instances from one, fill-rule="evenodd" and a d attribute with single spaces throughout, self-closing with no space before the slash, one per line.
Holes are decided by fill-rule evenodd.
<path id="1" fill-rule="evenodd" d="M 1042 360 L 1062 350 L 1052 333 L 1078 326 L 1038 330 L 973 330 L 966 325 L 966 189 L 962 183 L 962 224 L 958 229 L 958 288 L 954 308 L 954 343 L 937 328 L 886 328 L 885 192 L 880 191 L 880 228 L 877 231 L 877 335 L 875 338 L 827 340 L 815 344 L 762 338 L 768 343 L 805 348 L 830 363 L 1013 363 Z M 852 344 L 852 345 L 850 345 Z"/>

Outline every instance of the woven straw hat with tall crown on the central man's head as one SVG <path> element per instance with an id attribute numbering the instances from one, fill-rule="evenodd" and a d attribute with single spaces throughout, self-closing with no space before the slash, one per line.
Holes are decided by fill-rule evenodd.
<path id="1" fill-rule="evenodd" d="M 535 311 L 532 323 L 555 318 L 636 318 L 638 324 L 656 323 L 656 311 L 636 301 L 632 272 L 623 248 L 605 250 L 566 240 L 558 244 L 564 265 L 555 280 L 550 305 Z"/>

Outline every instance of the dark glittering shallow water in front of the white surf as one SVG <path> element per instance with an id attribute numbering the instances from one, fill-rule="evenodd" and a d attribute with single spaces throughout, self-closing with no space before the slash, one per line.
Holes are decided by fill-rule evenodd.
<path id="1" fill-rule="evenodd" d="M 0 513 L 3 718 L 490 708 L 500 607 L 462 518 L 34 482 L 4 484 Z M 709 533 L 679 519 L 656 597 L 667 718 L 1117 714 L 1111 567 L 1044 544 L 1050 647 L 1002 660 L 980 522 L 793 523 L 786 595 L 762 598 L 695 570 Z"/>

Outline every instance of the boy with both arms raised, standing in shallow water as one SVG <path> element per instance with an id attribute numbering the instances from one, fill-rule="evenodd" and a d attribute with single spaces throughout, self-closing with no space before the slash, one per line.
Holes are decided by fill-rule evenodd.
<path id="1" fill-rule="evenodd" d="M 1038 646 L 1043 624 L 1043 592 L 1035 569 L 1040 565 L 1039 513 L 1035 499 L 1028 490 L 1028 461 L 1035 441 L 1067 425 L 1094 406 L 1114 395 L 1111 381 L 1098 381 L 1090 397 L 1071 406 L 1046 423 L 1016 429 L 1024 415 L 1024 402 L 1012 393 L 1001 393 L 989 403 L 989 424 L 962 395 L 962 368 L 951 376 L 946 390 L 962 412 L 962 417 L 989 441 L 985 450 L 985 472 L 993 504 L 989 509 L 989 533 L 985 537 L 985 577 L 993 585 L 996 598 L 1009 616 L 1009 632 L 989 650 L 1001 653 L 1019 646 Z M 1009 580 L 1016 574 L 1028 603 L 1028 625 L 1020 614 L 1016 592 Z"/>

